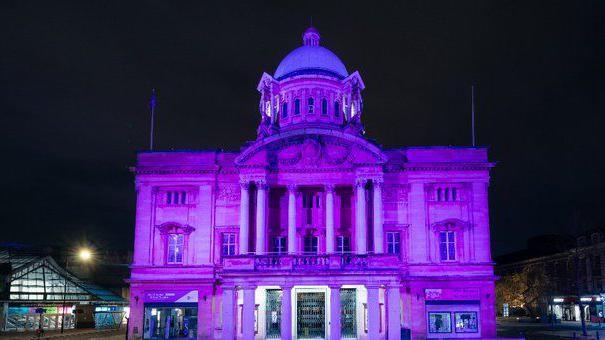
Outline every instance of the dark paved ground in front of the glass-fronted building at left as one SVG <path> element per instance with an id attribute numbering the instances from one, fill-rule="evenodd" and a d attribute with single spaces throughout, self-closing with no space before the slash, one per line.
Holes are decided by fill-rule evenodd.
<path id="1" fill-rule="evenodd" d="M 70 339 L 70 340 L 123 340 L 125 331 L 122 330 L 96 330 L 96 329 L 69 329 L 63 334 L 60 331 L 46 331 L 40 338 L 35 332 L 10 332 L 0 333 L 2 340 L 24 340 L 24 339 Z"/>

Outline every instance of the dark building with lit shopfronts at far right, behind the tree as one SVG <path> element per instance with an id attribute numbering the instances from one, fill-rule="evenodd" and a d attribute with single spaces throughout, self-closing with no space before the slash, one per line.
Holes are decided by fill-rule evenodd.
<path id="1" fill-rule="evenodd" d="M 496 273 L 504 277 L 524 270 L 540 271 L 548 282 L 540 292 L 537 306 L 542 316 L 553 314 L 564 321 L 580 321 L 582 308 L 585 320 L 601 323 L 605 320 L 603 259 L 603 228 L 577 237 L 542 235 L 531 239 L 527 249 L 500 256 Z M 514 306 L 509 304 L 510 307 Z"/>

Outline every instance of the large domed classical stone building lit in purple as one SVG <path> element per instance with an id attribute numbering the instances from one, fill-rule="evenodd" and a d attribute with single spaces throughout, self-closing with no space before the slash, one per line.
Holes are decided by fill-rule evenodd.
<path id="1" fill-rule="evenodd" d="M 138 154 L 131 336 L 495 337 L 487 149 L 382 148 L 364 87 L 309 28 L 255 141 Z"/>

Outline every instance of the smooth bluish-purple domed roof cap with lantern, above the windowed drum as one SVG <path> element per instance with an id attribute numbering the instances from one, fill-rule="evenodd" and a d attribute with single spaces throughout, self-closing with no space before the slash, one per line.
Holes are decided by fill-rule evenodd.
<path id="1" fill-rule="evenodd" d="M 303 46 L 290 52 L 279 63 L 273 77 L 281 80 L 300 74 L 324 74 L 342 79 L 349 72 L 336 54 L 319 46 L 319 32 L 310 27 L 303 34 Z"/>

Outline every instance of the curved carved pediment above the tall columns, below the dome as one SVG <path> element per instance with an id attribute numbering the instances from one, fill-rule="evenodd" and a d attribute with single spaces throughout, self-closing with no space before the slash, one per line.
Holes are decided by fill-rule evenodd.
<path id="1" fill-rule="evenodd" d="M 266 138 L 242 151 L 236 164 L 274 170 L 351 168 L 380 165 L 382 150 L 369 141 L 346 133 L 305 133 Z"/>

